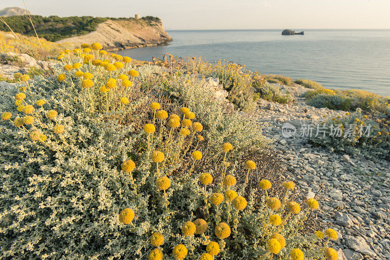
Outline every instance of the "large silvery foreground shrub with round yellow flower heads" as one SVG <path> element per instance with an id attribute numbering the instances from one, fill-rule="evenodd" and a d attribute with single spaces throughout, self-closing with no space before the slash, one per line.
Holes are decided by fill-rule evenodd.
<path id="1" fill-rule="evenodd" d="M 209 133 L 195 112 L 169 115 L 150 102 L 149 122 L 135 130 L 120 118 L 142 116 L 131 113 L 144 104 L 132 97 L 142 69 L 122 66 L 124 57 L 98 44 L 83 48 L 75 59 L 61 54 L 57 79 L 35 77 L 3 91 L 2 258 L 337 259 L 327 246 L 334 230 L 326 239 L 299 232 L 317 201 L 290 201 L 292 182 L 269 194 L 267 180 L 246 196 L 248 180 L 237 182 L 234 167 L 226 171 L 231 143 L 215 147 L 225 156 L 214 171 L 196 170 Z M 247 178 L 256 163 L 245 163 Z"/>

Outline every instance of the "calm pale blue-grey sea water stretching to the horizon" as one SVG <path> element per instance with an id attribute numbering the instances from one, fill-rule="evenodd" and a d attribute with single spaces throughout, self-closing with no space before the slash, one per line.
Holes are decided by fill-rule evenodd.
<path id="1" fill-rule="evenodd" d="M 390 30 L 168 31 L 170 45 L 119 51 L 150 60 L 157 54 L 225 58 L 262 74 L 311 79 L 328 88 L 361 89 L 390 95 Z"/>

